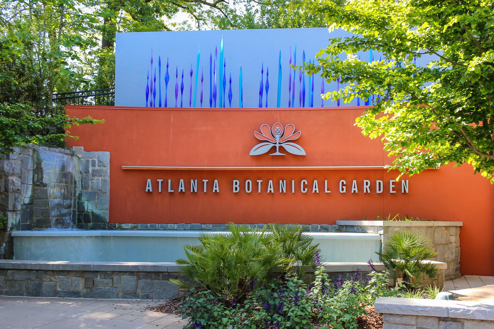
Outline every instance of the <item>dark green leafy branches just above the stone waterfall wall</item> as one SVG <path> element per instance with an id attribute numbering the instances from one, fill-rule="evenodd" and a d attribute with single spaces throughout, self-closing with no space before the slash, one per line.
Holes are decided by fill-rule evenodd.
<path id="1" fill-rule="evenodd" d="M 23 104 L 0 103 L 0 153 L 13 152 L 13 146 L 27 144 L 42 144 L 64 146 L 65 138 L 77 138 L 70 135 L 73 125 L 84 123 L 103 123 L 90 116 L 85 118 L 71 118 L 63 113 L 36 116 L 33 109 Z"/>

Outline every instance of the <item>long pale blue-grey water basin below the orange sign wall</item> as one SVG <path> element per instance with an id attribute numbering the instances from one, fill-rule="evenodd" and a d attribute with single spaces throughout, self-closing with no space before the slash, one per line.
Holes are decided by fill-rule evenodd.
<path id="1" fill-rule="evenodd" d="M 49 261 L 174 262 L 183 246 L 199 244 L 194 230 L 43 230 L 14 231 L 14 259 Z M 228 234 L 225 231 L 207 231 Z M 370 233 L 307 232 L 329 262 L 376 258 L 381 236 Z"/>

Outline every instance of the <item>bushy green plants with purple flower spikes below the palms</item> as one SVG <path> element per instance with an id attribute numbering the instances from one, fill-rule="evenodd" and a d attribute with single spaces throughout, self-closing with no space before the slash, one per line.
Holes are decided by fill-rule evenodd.
<path id="1" fill-rule="evenodd" d="M 190 318 L 188 329 L 357 328 L 357 319 L 379 296 L 397 296 L 389 289 L 386 273 L 372 271 L 364 280 L 358 271 L 352 279 L 331 282 L 324 266 L 317 266 L 309 288 L 293 272 L 282 280 L 248 292 L 245 301 L 232 302 L 210 291 L 193 292 L 179 312 Z"/>

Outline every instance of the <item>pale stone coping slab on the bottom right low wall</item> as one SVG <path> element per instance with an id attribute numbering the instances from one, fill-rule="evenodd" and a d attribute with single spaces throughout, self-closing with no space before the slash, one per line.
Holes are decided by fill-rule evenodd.
<path id="1" fill-rule="evenodd" d="M 377 313 L 494 321 L 494 304 L 474 301 L 379 297 L 374 308 Z"/>

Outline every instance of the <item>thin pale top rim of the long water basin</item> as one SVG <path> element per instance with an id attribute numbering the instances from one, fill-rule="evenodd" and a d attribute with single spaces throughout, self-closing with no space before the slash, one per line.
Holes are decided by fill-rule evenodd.
<path id="1" fill-rule="evenodd" d="M 204 230 L 35 230 L 13 231 L 12 236 L 45 237 L 45 236 L 142 236 L 142 237 L 198 237 L 201 234 L 230 234 L 227 231 Z M 379 234 L 348 233 L 348 232 L 305 232 L 314 239 L 362 239 L 380 240 Z"/>

